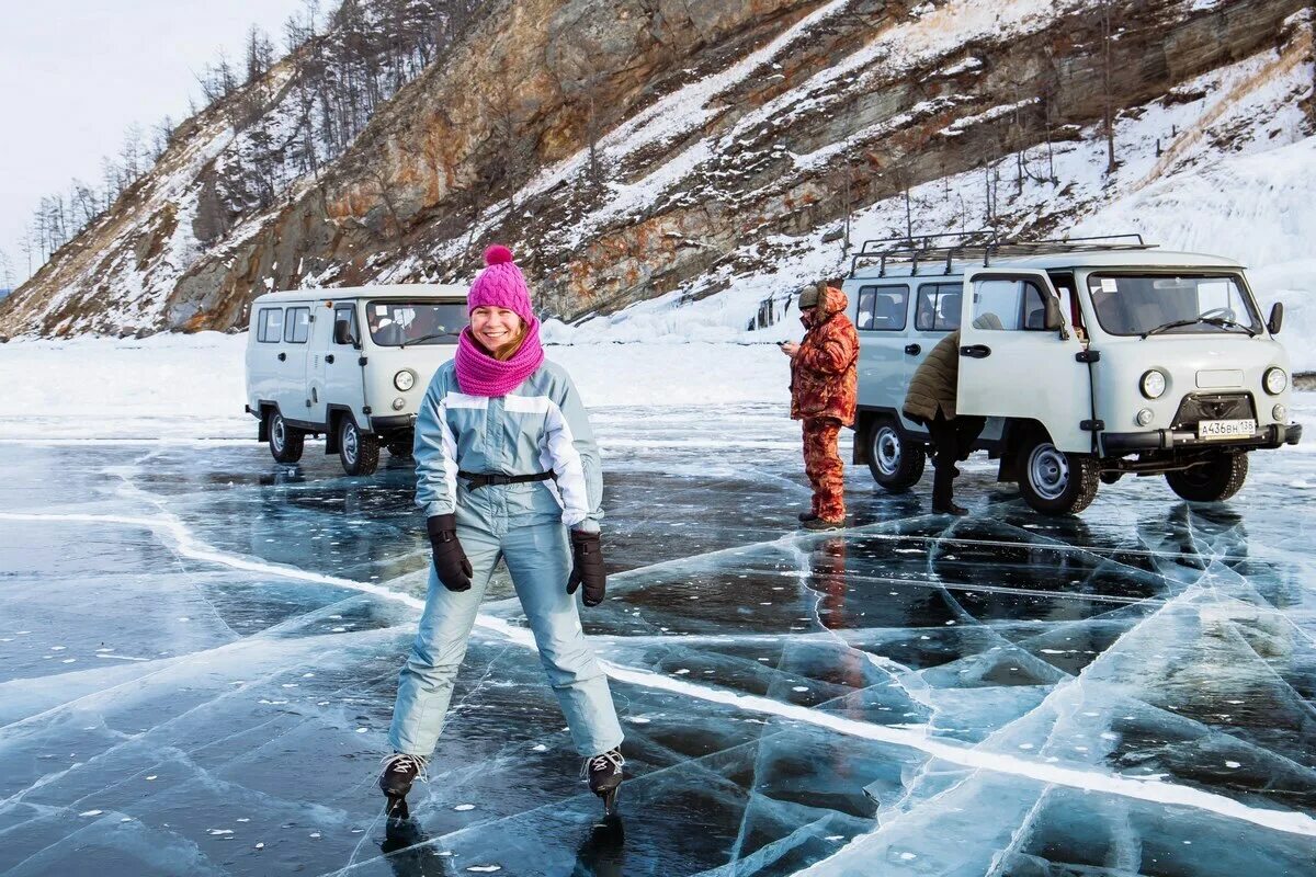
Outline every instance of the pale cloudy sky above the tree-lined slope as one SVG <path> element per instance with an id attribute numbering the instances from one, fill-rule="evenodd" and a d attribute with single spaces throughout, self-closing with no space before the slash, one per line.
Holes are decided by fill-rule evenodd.
<path id="1" fill-rule="evenodd" d="M 321 4 L 328 8 L 330 3 Z M 100 180 L 133 122 L 187 116 L 195 74 L 241 60 L 250 25 L 282 50 L 303 0 L 0 0 L 0 250 L 20 279 L 22 229 L 43 195 Z M 36 267 L 36 266 L 34 266 Z M 0 276 L 0 285 L 4 277 Z"/>

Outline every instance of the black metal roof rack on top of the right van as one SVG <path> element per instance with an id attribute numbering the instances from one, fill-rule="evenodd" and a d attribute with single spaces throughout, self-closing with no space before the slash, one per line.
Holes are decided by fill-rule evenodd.
<path id="1" fill-rule="evenodd" d="M 1137 233 L 1101 234 L 1083 238 L 1044 238 L 1038 241 L 1015 241 L 1000 237 L 995 229 L 978 231 L 951 231 L 946 234 L 916 234 L 911 238 L 883 238 L 865 241 L 859 251 L 850 259 L 850 273 L 865 263 L 878 262 L 878 276 L 887 275 L 887 264 L 892 262 L 911 263 L 909 273 L 919 273 L 920 262 L 945 262 L 945 272 L 951 272 L 955 259 L 982 259 L 983 267 L 991 266 L 992 256 L 1037 256 L 1053 252 L 1095 252 L 1101 250 L 1150 250 L 1154 243 L 1142 241 Z"/>

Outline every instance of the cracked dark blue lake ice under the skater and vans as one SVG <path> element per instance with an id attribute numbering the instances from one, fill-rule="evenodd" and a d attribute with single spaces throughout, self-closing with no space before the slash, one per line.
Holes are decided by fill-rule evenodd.
<path id="1" fill-rule="evenodd" d="M 854 526 L 804 534 L 780 406 L 594 419 L 613 823 L 503 576 L 386 826 L 408 463 L 0 443 L 0 873 L 1316 874 L 1309 444 L 1229 504 L 1126 479 L 1059 521 L 979 458 L 961 521 L 849 467 Z"/>

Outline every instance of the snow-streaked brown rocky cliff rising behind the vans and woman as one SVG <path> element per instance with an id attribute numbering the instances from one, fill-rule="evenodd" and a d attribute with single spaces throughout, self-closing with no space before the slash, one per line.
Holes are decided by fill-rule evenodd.
<path id="1" fill-rule="evenodd" d="M 268 289 L 466 279 L 495 239 L 567 322 L 740 291 L 724 310 L 744 325 L 837 270 L 846 224 L 1054 231 L 1184 167 L 1300 139 L 1308 5 L 492 4 L 267 204 L 221 184 L 251 129 L 222 107 L 191 120 L 0 304 L 0 333 L 228 329 Z M 250 88 L 278 114 L 296 59 Z"/>

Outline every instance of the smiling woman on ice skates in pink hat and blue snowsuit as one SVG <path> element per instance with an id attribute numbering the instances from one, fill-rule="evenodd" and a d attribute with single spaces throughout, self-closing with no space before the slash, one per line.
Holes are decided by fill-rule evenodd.
<path id="1" fill-rule="evenodd" d="M 391 815 L 425 768 L 494 567 L 505 561 L 590 790 L 611 810 L 622 732 L 608 681 L 584 642 L 586 606 L 604 598 L 599 447 L 575 384 L 544 359 L 525 276 L 503 246 L 467 295 L 471 326 L 455 363 L 430 380 L 416 417 L 416 504 L 433 567 L 425 611 L 397 682 L 379 786 Z M 551 484 L 550 484 L 551 483 Z"/>

